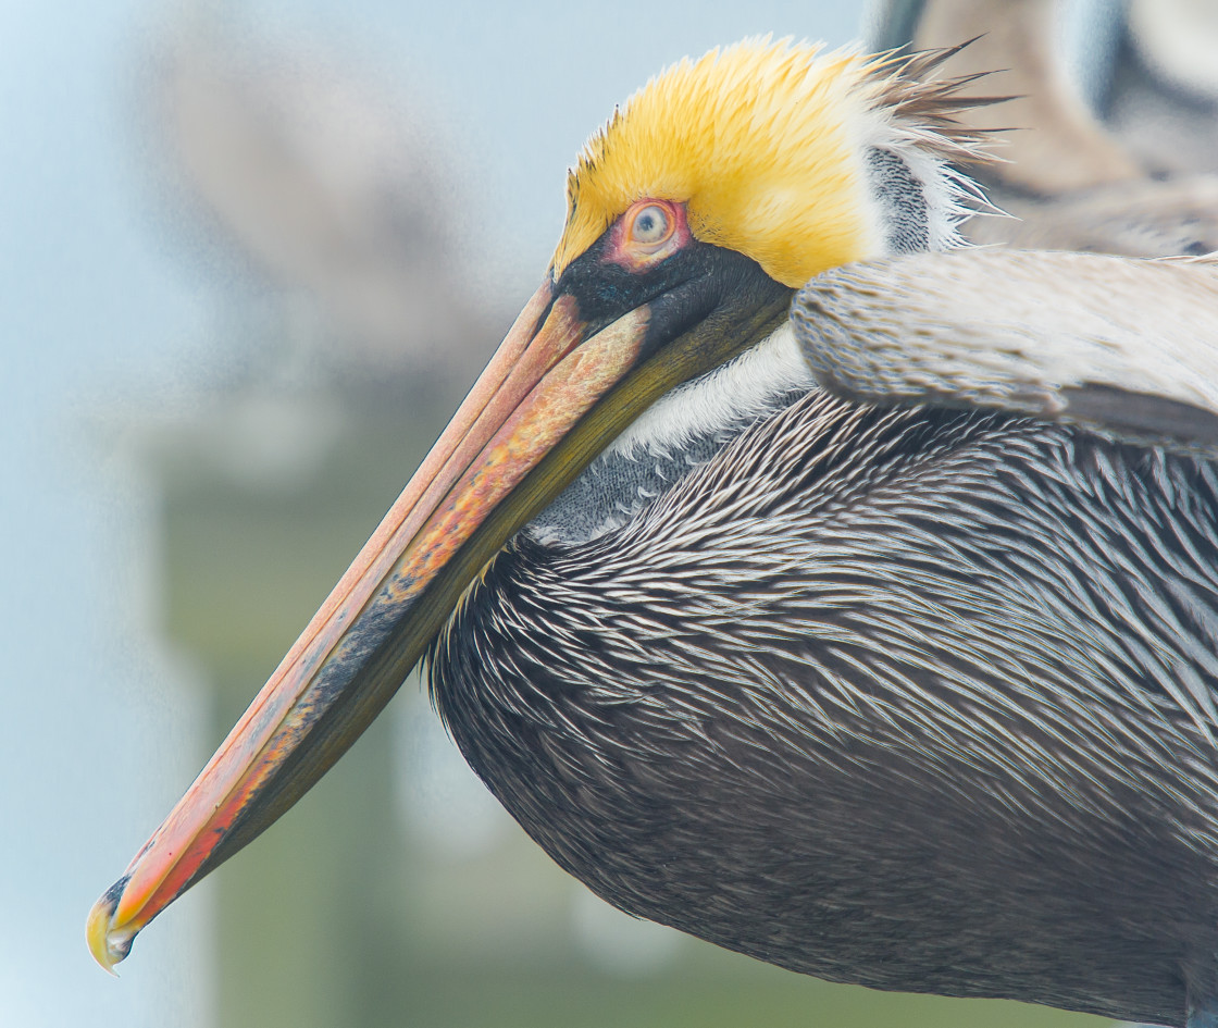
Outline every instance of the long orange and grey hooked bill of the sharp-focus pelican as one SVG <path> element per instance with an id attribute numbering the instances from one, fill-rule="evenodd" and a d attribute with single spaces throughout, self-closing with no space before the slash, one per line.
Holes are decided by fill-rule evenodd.
<path id="1" fill-rule="evenodd" d="M 709 294 L 708 294 L 709 295 Z M 789 291 L 726 320 L 654 303 L 590 324 L 547 278 L 351 568 L 88 920 L 107 971 L 153 917 L 269 827 L 347 750 L 462 593 L 638 413 L 760 339 Z"/>

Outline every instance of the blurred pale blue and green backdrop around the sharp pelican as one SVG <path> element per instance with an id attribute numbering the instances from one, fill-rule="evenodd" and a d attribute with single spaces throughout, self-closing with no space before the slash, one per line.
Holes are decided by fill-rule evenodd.
<path id="1" fill-rule="evenodd" d="M 1021 6 L 1052 9 L 1066 150 L 1102 152 L 1043 195 L 1006 183 L 1027 219 L 989 230 L 1173 177 L 1213 209 L 1214 5 L 967 5 Z M 899 45 L 927 7 L 0 5 L 0 1026 L 1102 1023 L 627 918 L 497 808 L 417 681 L 119 980 L 84 945 L 536 287 L 613 105 L 744 35 Z"/>

